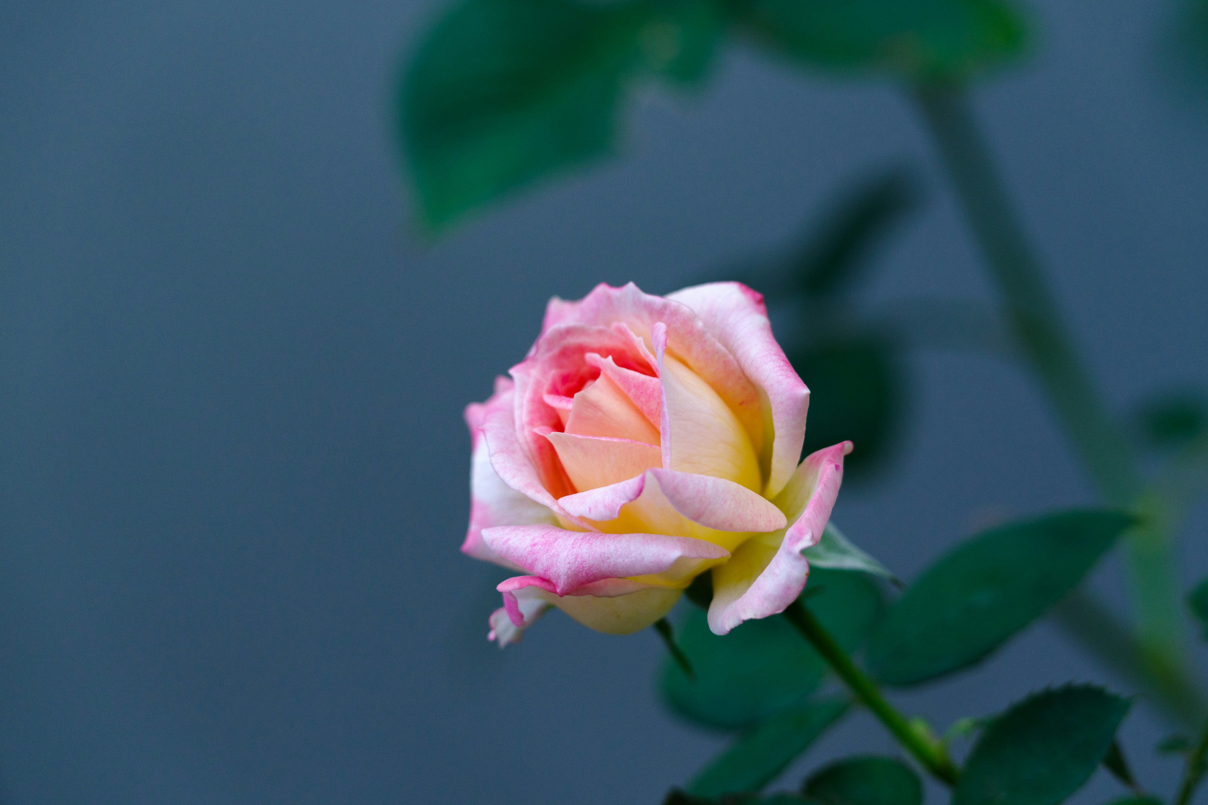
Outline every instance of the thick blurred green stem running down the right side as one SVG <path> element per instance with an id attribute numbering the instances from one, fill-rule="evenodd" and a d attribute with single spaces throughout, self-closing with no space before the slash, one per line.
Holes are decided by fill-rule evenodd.
<path id="1" fill-rule="evenodd" d="M 916 91 L 914 100 L 998 284 L 1005 319 L 1023 356 L 1104 498 L 1132 507 L 1142 492 L 1136 456 L 1061 325 L 1057 303 L 965 93 L 957 86 L 925 86 Z M 1169 533 L 1151 518 L 1127 542 L 1142 661 L 1146 670 L 1183 667 L 1183 613 Z M 1161 684 L 1157 678 L 1154 682 Z"/>

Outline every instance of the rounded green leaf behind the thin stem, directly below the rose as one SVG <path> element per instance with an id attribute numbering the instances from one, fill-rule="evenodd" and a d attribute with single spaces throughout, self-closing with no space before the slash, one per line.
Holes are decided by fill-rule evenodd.
<path id="1" fill-rule="evenodd" d="M 820 590 L 811 609 L 843 648 L 855 649 L 881 611 L 881 594 L 860 573 L 817 570 L 807 590 Z M 679 647 L 696 671 L 690 679 L 672 661 L 660 671 L 660 693 L 678 714 L 718 729 L 741 729 L 803 705 L 826 664 L 784 618 L 748 620 L 725 637 L 692 609 L 678 629 Z"/>

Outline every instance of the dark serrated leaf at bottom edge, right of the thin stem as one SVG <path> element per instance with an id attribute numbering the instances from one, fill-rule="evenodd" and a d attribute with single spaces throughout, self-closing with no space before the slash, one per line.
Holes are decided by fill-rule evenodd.
<path id="1" fill-rule="evenodd" d="M 952 805 L 1053 805 L 1094 774 L 1129 701 L 1094 686 L 1033 694 L 982 733 Z"/>

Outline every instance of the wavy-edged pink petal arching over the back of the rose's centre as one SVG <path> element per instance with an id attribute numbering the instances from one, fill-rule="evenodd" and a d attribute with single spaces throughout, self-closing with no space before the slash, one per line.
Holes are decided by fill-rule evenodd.
<path id="1" fill-rule="evenodd" d="M 546 308 L 542 337 L 570 323 L 623 323 L 652 348 L 652 332 L 658 322 L 667 326 L 669 350 L 718 392 L 742 422 L 755 449 L 760 450 L 763 447 L 765 426 L 759 390 L 743 373 L 734 356 L 681 302 L 672 297 L 643 293 L 633 282 L 620 288 L 600 284 L 579 302 L 551 299 Z"/>

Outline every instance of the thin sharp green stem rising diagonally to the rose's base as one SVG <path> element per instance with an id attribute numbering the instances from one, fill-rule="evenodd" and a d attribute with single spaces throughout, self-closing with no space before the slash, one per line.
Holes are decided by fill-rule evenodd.
<path id="1" fill-rule="evenodd" d="M 789 605 L 789 608 L 784 611 L 784 617 L 821 654 L 823 659 L 835 670 L 835 673 L 852 689 L 852 693 L 872 711 L 873 716 L 881 719 L 881 723 L 914 756 L 914 759 L 923 764 L 923 768 L 949 786 L 957 783 L 960 771 L 952 763 L 952 759 L 948 758 L 943 743 L 931 735 L 930 730 L 925 727 L 911 723 L 890 705 L 881 695 L 881 690 L 876 683 L 856 667 L 852 658 L 847 655 L 847 652 L 835 642 L 835 638 L 826 631 L 826 628 L 814 618 L 813 613 L 800 600 Z"/>

